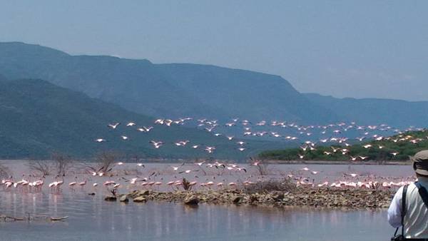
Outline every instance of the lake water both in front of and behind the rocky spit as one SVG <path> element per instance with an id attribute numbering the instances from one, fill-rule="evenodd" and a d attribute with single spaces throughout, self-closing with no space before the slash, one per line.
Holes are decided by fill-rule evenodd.
<path id="1" fill-rule="evenodd" d="M 9 162 L 8 162 L 9 163 Z M 6 163 L 6 164 L 8 164 Z M 135 164 L 127 164 L 134 168 Z M 14 176 L 28 170 L 19 163 L 9 163 Z M 149 164 L 141 176 L 153 170 L 162 170 L 157 178 L 173 180 L 170 165 Z M 409 166 L 377 165 L 272 165 L 277 172 L 300 170 L 302 167 L 321 171 L 317 179 L 340 178 L 342 173 L 403 177 L 412 175 Z M 121 168 L 126 168 L 121 166 Z M 169 173 L 169 174 L 168 174 Z M 73 173 L 83 180 L 88 175 Z M 189 174 L 188 178 L 195 178 Z M 200 181 L 215 173 L 198 172 Z M 223 173 L 228 181 L 255 176 L 255 171 L 235 174 Z M 274 176 L 274 175 L 272 175 Z M 129 175 L 128 178 L 131 178 Z M 48 215 L 69 216 L 63 222 L 44 219 L 16 222 L 0 221 L 0 240 L 389 240 L 394 230 L 389 227 L 386 210 L 320 210 L 315 208 L 250 207 L 235 205 L 199 205 L 188 207 L 180 203 L 146 202 L 128 204 L 106 202 L 104 187 L 97 190 L 89 182 L 102 183 L 111 178 L 94 177 L 85 188 L 70 190 L 63 186 L 61 193 L 51 193 L 44 187 L 41 193 L 0 189 L 0 214 L 14 217 Z M 114 180 L 121 180 L 116 176 Z M 46 182 L 49 182 L 49 177 Z M 135 189 L 123 183 L 120 193 Z M 88 195 L 95 191 L 96 195 Z"/>

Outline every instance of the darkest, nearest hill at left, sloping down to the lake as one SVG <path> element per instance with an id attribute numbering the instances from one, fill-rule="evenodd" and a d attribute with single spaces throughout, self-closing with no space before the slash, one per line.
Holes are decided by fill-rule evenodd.
<path id="1" fill-rule="evenodd" d="M 153 125 L 149 133 L 125 124 Z M 268 142 L 253 142 L 248 152 L 235 150 L 235 142 L 227 142 L 203 130 L 173 125 L 154 125 L 153 118 L 126 111 L 111 103 L 89 98 L 83 93 L 54 86 L 47 81 L 21 79 L 0 81 L 0 159 L 49 158 L 60 152 L 74 158 L 93 158 L 103 150 L 115 150 L 129 157 L 140 158 L 245 158 Z M 121 122 L 117 130 L 108 123 Z M 121 140 L 126 135 L 130 140 Z M 105 138 L 106 143 L 96 143 Z M 208 155 L 203 149 L 176 147 L 173 142 L 190 140 L 191 144 L 215 145 Z M 154 149 L 150 140 L 163 140 L 161 149 Z"/>

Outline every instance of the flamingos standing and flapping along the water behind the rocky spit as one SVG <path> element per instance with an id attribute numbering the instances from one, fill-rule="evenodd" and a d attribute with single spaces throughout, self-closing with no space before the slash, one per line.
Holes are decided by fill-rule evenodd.
<path id="1" fill-rule="evenodd" d="M 183 163 L 184 164 L 184 163 Z M 124 163 L 116 163 L 115 167 L 125 165 Z M 128 163 L 128 165 L 131 165 Z M 136 164 L 138 168 L 145 168 L 142 163 Z M 194 165 L 195 168 L 185 169 L 185 166 Z M 258 165 L 263 165 L 259 161 L 255 161 L 248 166 L 248 168 L 258 168 Z M 21 180 L 14 180 L 6 178 L 1 180 L 4 190 L 20 190 L 21 192 L 40 192 L 44 186 L 47 186 L 51 193 L 60 193 L 61 187 L 67 185 L 71 191 L 74 188 L 81 187 L 84 190 L 87 185 L 91 186 L 93 190 L 98 188 L 98 185 L 104 186 L 106 189 L 119 189 L 126 188 L 130 189 L 163 189 L 163 190 L 178 190 L 183 188 L 183 177 L 189 178 L 189 184 L 193 190 L 197 189 L 230 189 L 240 188 L 243 186 L 256 185 L 258 182 L 269 180 L 268 178 L 277 178 L 275 175 L 257 175 L 257 170 L 251 170 L 250 175 L 245 175 L 247 172 L 250 173 L 245 167 L 240 167 L 235 163 L 191 163 L 186 165 L 168 166 L 170 170 L 161 173 L 154 171 L 146 178 L 140 175 L 119 175 L 111 173 L 103 173 L 101 171 L 87 172 L 87 174 L 81 175 L 81 181 L 78 181 L 76 176 L 75 180 L 65 183 L 64 179 L 60 179 L 56 176 L 51 183 L 46 183 L 45 177 L 37 177 L 37 175 L 23 175 Z M 208 169 L 215 168 L 220 169 L 218 173 L 208 173 Z M 172 173 L 171 173 L 172 172 Z M 220 174 L 223 173 L 223 174 Z M 412 176 L 403 178 L 392 178 L 383 177 L 376 175 L 362 175 L 359 173 L 342 173 L 340 177 L 335 178 L 334 181 L 329 182 L 327 177 L 324 181 L 315 182 L 315 175 L 319 175 L 321 172 L 316 170 L 310 170 L 310 168 L 302 168 L 295 171 L 290 171 L 287 175 L 280 175 L 280 178 L 290 180 L 295 183 L 297 187 L 302 188 L 394 188 L 402 185 L 407 185 L 414 182 L 416 179 Z M 163 174 L 163 175 L 162 175 Z M 179 177 L 179 175 L 181 176 Z M 28 178 L 26 178 L 28 177 Z M 158 180 L 156 180 L 158 178 Z M 165 179 L 171 179 L 168 182 L 164 182 Z M 193 179 L 191 179 L 193 178 Z M 228 179 L 234 181 L 228 182 Z M 203 180 L 203 181 L 199 181 Z M 98 183 L 99 181 L 99 183 Z M 91 183 L 90 183 L 91 182 Z"/>

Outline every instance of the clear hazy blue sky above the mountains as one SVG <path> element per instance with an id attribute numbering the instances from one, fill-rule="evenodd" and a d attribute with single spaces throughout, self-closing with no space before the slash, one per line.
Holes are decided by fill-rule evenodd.
<path id="1" fill-rule="evenodd" d="M 337 97 L 428 101 L 428 1 L 1 1 L 0 41 L 243 68 Z"/>

